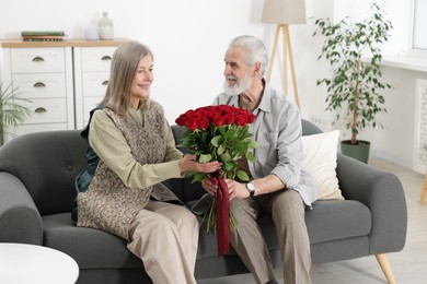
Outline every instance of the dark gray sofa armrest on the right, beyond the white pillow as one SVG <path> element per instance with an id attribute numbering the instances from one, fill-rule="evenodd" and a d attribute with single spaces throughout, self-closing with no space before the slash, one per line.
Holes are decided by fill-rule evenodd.
<path id="1" fill-rule="evenodd" d="M 338 154 L 337 177 L 343 196 L 371 211 L 371 255 L 400 251 L 406 240 L 407 209 L 400 179 L 391 173 Z"/>

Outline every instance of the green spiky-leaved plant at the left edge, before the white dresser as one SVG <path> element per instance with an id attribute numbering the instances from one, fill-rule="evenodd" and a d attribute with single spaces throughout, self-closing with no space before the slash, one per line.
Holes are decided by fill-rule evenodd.
<path id="1" fill-rule="evenodd" d="M 30 102 L 19 97 L 18 87 L 13 88 L 12 83 L 7 87 L 0 84 L 0 146 L 4 143 L 4 134 L 9 127 L 16 127 L 31 115 L 31 110 L 21 105 L 20 102 Z"/>

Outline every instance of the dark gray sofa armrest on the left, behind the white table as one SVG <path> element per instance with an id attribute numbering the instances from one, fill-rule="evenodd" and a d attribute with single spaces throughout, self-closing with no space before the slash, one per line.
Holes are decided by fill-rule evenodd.
<path id="1" fill-rule="evenodd" d="M 42 216 L 15 176 L 0 171 L 0 242 L 42 245 Z"/>

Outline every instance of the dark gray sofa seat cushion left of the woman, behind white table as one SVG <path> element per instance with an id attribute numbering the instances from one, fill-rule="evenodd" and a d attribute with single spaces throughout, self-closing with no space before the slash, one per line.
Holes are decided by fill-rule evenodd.
<path id="1" fill-rule="evenodd" d="M 141 268 L 142 261 L 131 255 L 126 241 L 105 232 L 77 227 L 71 213 L 43 216 L 44 246 L 73 258 L 80 269 Z"/>

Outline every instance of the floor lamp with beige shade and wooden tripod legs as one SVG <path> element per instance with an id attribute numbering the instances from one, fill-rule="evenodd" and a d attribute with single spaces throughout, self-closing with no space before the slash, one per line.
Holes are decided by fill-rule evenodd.
<path id="1" fill-rule="evenodd" d="M 290 72 L 292 76 L 293 95 L 298 107 L 300 102 L 298 97 L 297 78 L 293 66 L 293 55 L 289 36 L 289 24 L 304 24 L 305 19 L 305 0 L 265 0 L 263 9 L 264 23 L 276 24 L 276 35 L 273 44 L 272 56 L 268 63 L 267 82 L 272 76 L 273 62 L 276 55 L 277 43 L 280 31 L 282 34 L 284 47 L 284 93 L 288 94 L 288 58 L 290 64 Z"/>

